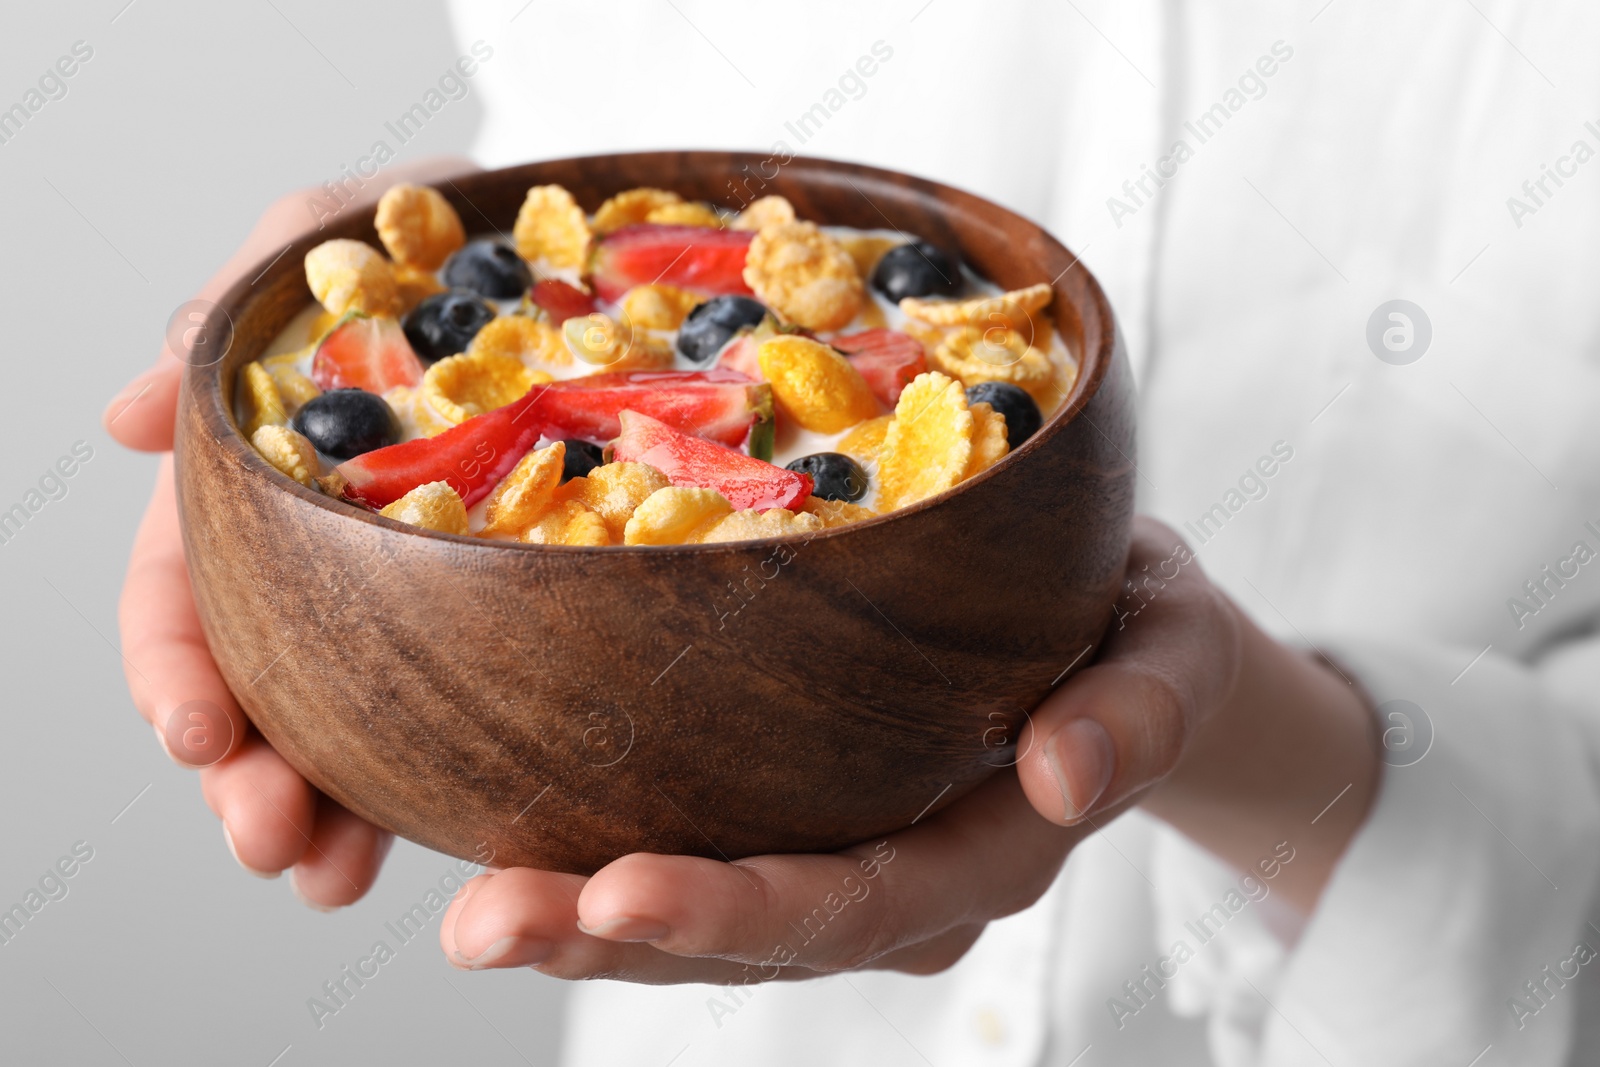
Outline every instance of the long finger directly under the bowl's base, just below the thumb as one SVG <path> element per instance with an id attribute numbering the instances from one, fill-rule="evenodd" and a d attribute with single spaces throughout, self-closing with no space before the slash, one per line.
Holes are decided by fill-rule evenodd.
<path id="1" fill-rule="evenodd" d="M 626 856 L 590 878 L 578 912 L 598 937 L 674 955 L 848 969 L 1027 907 L 1080 837 L 1038 819 L 1002 773 L 909 830 L 830 856 Z"/>

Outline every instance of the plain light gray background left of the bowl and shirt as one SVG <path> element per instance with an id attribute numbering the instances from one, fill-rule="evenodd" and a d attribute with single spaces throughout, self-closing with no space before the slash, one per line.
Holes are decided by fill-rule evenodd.
<path id="1" fill-rule="evenodd" d="M 125 3 L 8 5 L 0 32 L 0 107 L 74 42 L 94 48 L 67 96 L 0 146 L 0 510 L 74 442 L 94 448 L 67 496 L 0 545 L 0 910 L 75 841 L 94 849 L 0 945 L 0 1062 L 552 1062 L 562 985 L 453 971 L 437 920 L 315 1029 L 306 1000 L 379 937 L 394 945 L 384 923 L 451 861 L 397 841 L 378 888 L 333 915 L 286 878 L 248 877 L 195 774 L 133 710 L 117 651 L 155 459 L 114 445 L 101 408 L 267 203 L 336 176 L 419 72 L 461 50 L 442 5 L 416 0 Z M 464 152 L 478 117 L 474 98 L 451 102 L 397 163 Z"/>

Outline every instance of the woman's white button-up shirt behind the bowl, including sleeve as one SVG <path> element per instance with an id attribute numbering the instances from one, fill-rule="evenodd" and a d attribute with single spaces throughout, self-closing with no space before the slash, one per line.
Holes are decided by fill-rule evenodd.
<path id="1" fill-rule="evenodd" d="M 1422 709 L 1379 707 L 1397 766 L 1302 929 L 1270 881 L 1242 889 L 1134 813 L 941 976 L 742 1005 L 586 984 L 566 1062 L 1594 1056 L 1600 563 L 1574 545 L 1600 553 L 1600 10 L 538 0 L 507 24 L 517 6 L 456 5 L 462 46 L 494 48 L 485 165 L 782 141 L 1045 222 L 1128 338 L 1142 510 L 1272 633 Z M 875 42 L 893 56 L 802 144 L 786 123 Z M 1432 331 L 1402 365 L 1366 339 L 1394 299 Z M 1414 355 L 1419 325 L 1378 350 Z M 1291 458 L 1246 477 L 1275 445 Z"/>

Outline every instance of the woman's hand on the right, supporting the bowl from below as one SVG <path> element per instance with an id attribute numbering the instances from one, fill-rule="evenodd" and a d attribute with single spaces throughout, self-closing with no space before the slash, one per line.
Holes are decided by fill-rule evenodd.
<path id="1" fill-rule="evenodd" d="M 1166 526 L 1136 523 L 1128 581 L 1098 661 L 1034 712 L 1016 771 L 939 814 L 829 856 L 725 864 L 634 854 L 590 878 L 485 873 L 445 913 L 446 957 L 459 968 L 536 966 L 634 982 L 933 973 L 955 963 L 989 921 L 1037 901 L 1074 845 L 1146 797 L 1203 845 L 1251 865 L 1270 854 L 1285 822 L 1304 827 L 1315 814 L 1301 816 L 1302 795 L 1322 797 L 1325 779 L 1342 785 L 1363 760 L 1376 763 L 1363 747 L 1366 712 L 1330 670 L 1256 630 Z M 1315 721 L 1240 741 L 1264 715 L 1293 720 L 1296 709 Z M 1286 768 L 1294 760 L 1278 753 L 1283 769 L 1267 776 L 1274 795 L 1240 761 L 1286 729 L 1317 745 L 1314 763 L 1326 766 Z M 1315 901 L 1374 774 L 1352 790 L 1354 819 L 1310 827 L 1320 848 L 1296 835 L 1301 856 L 1322 859 L 1296 862 L 1293 878 L 1285 869 L 1278 885 L 1288 899 L 1307 909 Z M 1200 814 L 1187 817 L 1187 805 Z"/>

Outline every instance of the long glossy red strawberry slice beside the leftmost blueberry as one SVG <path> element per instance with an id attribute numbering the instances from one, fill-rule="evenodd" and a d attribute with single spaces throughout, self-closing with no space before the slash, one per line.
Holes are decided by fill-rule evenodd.
<path id="1" fill-rule="evenodd" d="M 350 501 L 386 507 L 419 485 L 448 482 L 472 507 L 510 474 L 544 430 L 539 400 L 546 387 L 534 386 L 520 400 L 474 416 L 438 437 L 378 448 L 347 459 L 334 472 L 344 478 Z"/>

